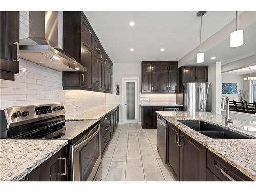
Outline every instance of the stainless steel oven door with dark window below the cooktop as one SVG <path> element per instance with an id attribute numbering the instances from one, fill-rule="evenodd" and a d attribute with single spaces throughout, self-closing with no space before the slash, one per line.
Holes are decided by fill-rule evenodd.
<path id="1" fill-rule="evenodd" d="M 101 163 L 100 125 L 71 146 L 73 181 L 93 181 Z"/>

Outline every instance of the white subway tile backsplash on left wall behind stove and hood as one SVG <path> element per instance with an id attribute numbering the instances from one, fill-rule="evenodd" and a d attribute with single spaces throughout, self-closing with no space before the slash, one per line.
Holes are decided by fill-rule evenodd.
<path id="1" fill-rule="evenodd" d="M 20 38 L 28 37 L 28 12 L 20 11 Z M 105 93 L 63 90 L 62 72 L 20 59 L 15 81 L 0 81 L 0 108 L 64 103 L 66 113 L 105 104 Z"/>

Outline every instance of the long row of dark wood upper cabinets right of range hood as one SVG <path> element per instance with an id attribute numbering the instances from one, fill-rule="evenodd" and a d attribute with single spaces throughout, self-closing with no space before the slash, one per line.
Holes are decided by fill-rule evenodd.
<path id="1" fill-rule="evenodd" d="M 82 11 L 63 11 L 63 50 L 88 70 L 63 71 L 64 89 L 112 93 L 112 62 Z"/>

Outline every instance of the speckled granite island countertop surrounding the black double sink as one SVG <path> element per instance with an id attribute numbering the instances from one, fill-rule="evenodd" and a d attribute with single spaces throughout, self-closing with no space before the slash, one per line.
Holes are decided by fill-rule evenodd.
<path id="1" fill-rule="evenodd" d="M 156 112 L 168 122 L 174 124 L 182 132 L 195 139 L 211 152 L 230 163 L 242 173 L 256 181 L 256 122 L 236 119 L 237 124 L 225 126 L 225 116 L 210 112 Z M 225 129 L 246 135 L 252 139 L 212 139 L 178 120 L 203 120 L 221 126 Z"/>

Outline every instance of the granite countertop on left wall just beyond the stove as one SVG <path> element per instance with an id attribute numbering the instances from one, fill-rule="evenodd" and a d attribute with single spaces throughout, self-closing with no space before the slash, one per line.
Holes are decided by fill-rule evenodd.
<path id="1" fill-rule="evenodd" d="M 119 104 L 99 105 L 74 114 L 66 114 L 65 119 L 66 121 L 98 120 L 117 108 L 117 106 L 119 106 Z"/>

